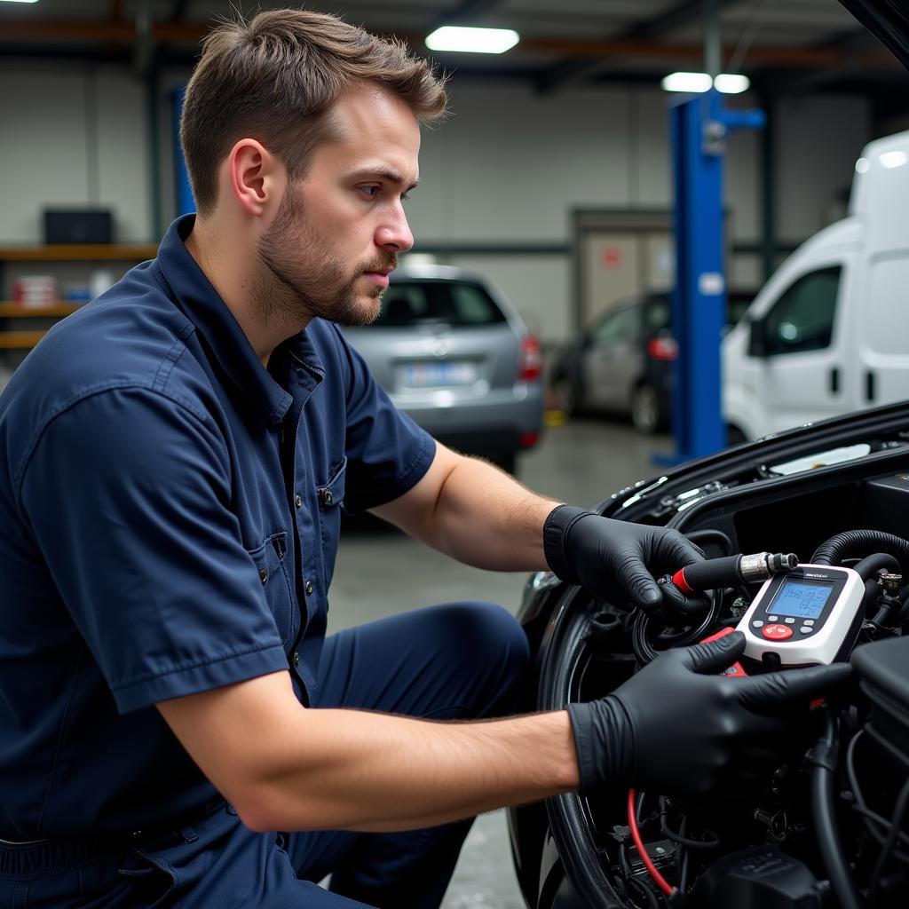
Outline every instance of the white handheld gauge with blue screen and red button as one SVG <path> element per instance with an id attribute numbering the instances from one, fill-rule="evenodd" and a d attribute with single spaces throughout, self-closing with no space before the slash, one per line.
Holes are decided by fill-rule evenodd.
<path id="1" fill-rule="evenodd" d="M 852 568 L 799 564 L 764 582 L 738 624 L 744 655 L 781 666 L 829 664 L 847 654 L 864 620 L 864 582 Z"/>

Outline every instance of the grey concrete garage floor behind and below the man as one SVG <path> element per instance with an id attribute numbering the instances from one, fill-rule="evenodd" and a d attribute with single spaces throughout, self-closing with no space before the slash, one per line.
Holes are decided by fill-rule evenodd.
<path id="1" fill-rule="evenodd" d="M 573 420 L 550 426 L 544 441 L 518 466 L 539 493 L 588 506 L 634 480 L 657 474 L 655 453 L 671 450 L 665 436 L 647 438 L 622 423 Z M 347 533 L 330 592 L 329 631 L 452 599 L 489 600 L 514 610 L 526 574 L 496 574 L 458 564 L 404 534 L 377 529 Z M 514 879 L 504 813 L 477 819 L 443 909 L 524 909 Z"/>

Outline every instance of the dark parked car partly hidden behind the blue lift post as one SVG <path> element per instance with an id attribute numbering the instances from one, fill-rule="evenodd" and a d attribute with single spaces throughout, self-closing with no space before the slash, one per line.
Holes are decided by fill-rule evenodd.
<path id="1" fill-rule="evenodd" d="M 727 327 L 753 298 L 751 291 L 728 292 Z M 629 415 L 637 429 L 653 433 L 669 424 L 677 355 L 668 292 L 630 297 L 600 315 L 556 357 L 550 372 L 556 405 L 568 415 Z"/>

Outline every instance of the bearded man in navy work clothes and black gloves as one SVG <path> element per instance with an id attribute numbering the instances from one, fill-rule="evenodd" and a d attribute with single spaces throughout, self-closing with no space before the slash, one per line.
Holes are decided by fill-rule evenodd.
<path id="1" fill-rule="evenodd" d="M 346 345 L 413 244 L 420 124 L 444 108 L 425 61 L 335 18 L 215 28 L 181 125 L 197 215 L 0 398 L 4 904 L 436 906 L 473 815 L 731 791 L 842 683 L 733 691 L 732 635 L 503 719 L 527 646 L 497 606 L 325 638 L 341 503 L 648 609 L 652 573 L 701 557 L 435 444 Z"/>

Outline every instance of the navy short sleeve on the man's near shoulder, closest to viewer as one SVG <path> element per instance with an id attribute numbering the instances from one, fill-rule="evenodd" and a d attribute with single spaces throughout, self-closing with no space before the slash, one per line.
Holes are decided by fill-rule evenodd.
<path id="1" fill-rule="evenodd" d="M 21 502 L 121 713 L 287 668 L 205 414 L 89 396 L 45 429 Z"/>

